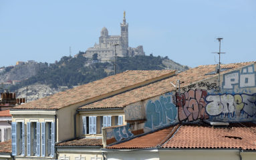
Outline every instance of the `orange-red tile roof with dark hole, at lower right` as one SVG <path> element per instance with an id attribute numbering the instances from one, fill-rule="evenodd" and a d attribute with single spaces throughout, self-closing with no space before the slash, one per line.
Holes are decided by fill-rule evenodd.
<path id="1" fill-rule="evenodd" d="M 245 125 L 245 126 L 243 126 Z M 256 149 L 256 124 L 233 123 L 229 128 L 182 125 L 162 148 Z"/>

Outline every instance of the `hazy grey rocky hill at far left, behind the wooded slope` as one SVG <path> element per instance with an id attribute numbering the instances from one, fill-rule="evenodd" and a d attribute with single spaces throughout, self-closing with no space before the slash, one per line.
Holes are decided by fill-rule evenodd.
<path id="1" fill-rule="evenodd" d="M 8 80 L 22 81 L 29 77 L 33 77 L 43 67 L 46 67 L 45 63 L 28 63 L 19 67 L 15 67 L 11 69 L 11 71 L 0 75 L 0 83 L 5 83 Z"/>

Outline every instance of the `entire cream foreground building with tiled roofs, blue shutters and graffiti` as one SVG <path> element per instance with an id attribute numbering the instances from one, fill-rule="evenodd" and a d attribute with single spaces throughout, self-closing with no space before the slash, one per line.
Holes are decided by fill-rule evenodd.
<path id="1" fill-rule="evenodd" d="M 215 67 L 126 71 L 17 105 L 11 155 L 255 159 L 256 62 L 221 65 L 220 81 Z"/>

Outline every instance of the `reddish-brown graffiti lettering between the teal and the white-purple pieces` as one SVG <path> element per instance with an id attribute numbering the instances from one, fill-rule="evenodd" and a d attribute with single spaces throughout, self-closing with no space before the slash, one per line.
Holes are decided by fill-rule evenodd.
<path id="1" fill-rule="evenodd" d="M 207 91 L 203 89 L 190 89 L 182 94 L 176 93 L 176 107 L 178 107 L 179 121 L 195 121 L 197 119 L 208 119 L 205 112 L 205 101 Z"/>

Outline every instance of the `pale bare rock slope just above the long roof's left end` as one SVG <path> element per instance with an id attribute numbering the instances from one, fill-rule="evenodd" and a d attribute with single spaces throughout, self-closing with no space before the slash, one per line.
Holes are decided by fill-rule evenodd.
<path id="1" fill-rule="evenodd" d="M 49 85 L 29 85 L 15 91 L 17 98 L 25 98 L 27 95 L 27 102 L 53 95 L 60 92 L 61 89 L 50 88 Z"/>

